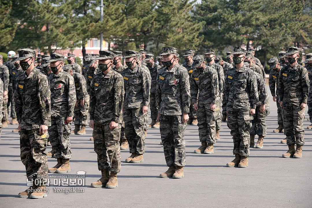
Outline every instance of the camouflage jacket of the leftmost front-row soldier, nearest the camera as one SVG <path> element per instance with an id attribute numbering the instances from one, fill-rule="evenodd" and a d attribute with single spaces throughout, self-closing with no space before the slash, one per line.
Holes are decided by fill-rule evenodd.
<path id="1" fill-rule="evenodd" d="M 15 111 L 22 129 L 51 126 L 50 95 L 49 79 L 36 68 L 17 77 Z"/>

